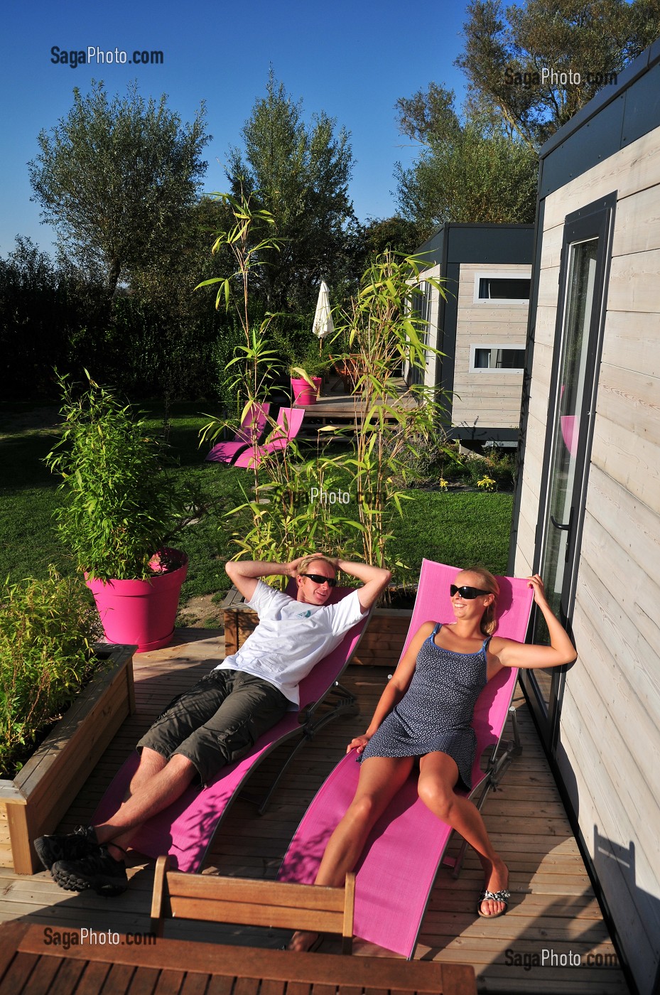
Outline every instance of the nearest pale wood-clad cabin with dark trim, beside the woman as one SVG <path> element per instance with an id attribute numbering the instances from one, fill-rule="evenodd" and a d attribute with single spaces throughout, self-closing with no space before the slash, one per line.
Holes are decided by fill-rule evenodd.
<path id="1" fill-rule="evenodd" d="M 613 935 L 660 990 L 660 41 L 541 150 L 510 568 L 572 628 L 524 686 Z M 536 638 L 543 639 L 542 625 Z"/>

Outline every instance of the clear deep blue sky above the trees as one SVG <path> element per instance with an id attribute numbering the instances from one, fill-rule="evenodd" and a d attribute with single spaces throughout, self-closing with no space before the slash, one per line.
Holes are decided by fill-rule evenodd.
<path id="1" fill-rule="evenodd" d="M 75 86 L 91 79 L 109 94 L 137 80 L 143 97 L 168 95 L 168 106 L 191 120 L 201 100 L 213 135 L 204 189 L 224 190 L 230 145 L 256 98 L 265 93 L 270 65 L 288 94 L 303 100 L 306 119 L 325 110 L 351 132 L 356 165 L 351 196 L 358 217 L 395 212 L 391 191 L 397 160 L 414 149 L 399 134 L 394 105 L 429 82 L 462 99 L 463 76 L 453 67 L 461 50 L 461 0 L 441 0 L 406 13 L 401 0 L 201 0 L 195 4 L 125 0 L 93 5 L 52 0 L 6 0 L 0 36 L 0 256 L 28 235 L 49 251 L 53 235 L 31 202 L 26 163 L 38 153 L 37 135 L 66 116 Z M 51 49 L 163 52 L 163 65 L 82 65 L 52 62 Z"/>

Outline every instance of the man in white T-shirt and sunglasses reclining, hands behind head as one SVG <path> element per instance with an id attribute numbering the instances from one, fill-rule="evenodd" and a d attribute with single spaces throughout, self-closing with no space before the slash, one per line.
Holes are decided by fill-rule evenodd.
<path id="1" fill-rule="evenodd" d="M 299 703 L 298 684 L 374 605 L 391 573 L 380 567 L 311 555 L 291 563 L 229 562 L 227 573 L 259 618 L 244 645 L 190 691 L 175 698 L 137 744 L 140 762 L 119 809 L 97 826 L 42 836 L 35 849 L 62 888 L 119 895 L 128 887 L 126 848 L 142 823 L 176 801 L 194 781 L 212 780 Z M 363 583 L 327 604 L 343 570 Z M 260 577 L 295 579 L 297 596 Z"/>

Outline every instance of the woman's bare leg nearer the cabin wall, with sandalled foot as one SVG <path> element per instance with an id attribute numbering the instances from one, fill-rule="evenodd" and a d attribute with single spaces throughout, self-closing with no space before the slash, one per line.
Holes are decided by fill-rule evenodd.
<path id="1" fill-rule="evenodd" d="M 448 823 L 476 850 L 485 875 L 485 890 L 500 892 L 509 881 L 507 866 L 493 850 L 481 813 L 468 798 L 454 791 L 458 767 L 446 753 L 427 753 L 419 761 L 419 798 L 433 815 Z M 501 912 L 504 903 L 488 898 L 481 903 L 484 915 Z"/>

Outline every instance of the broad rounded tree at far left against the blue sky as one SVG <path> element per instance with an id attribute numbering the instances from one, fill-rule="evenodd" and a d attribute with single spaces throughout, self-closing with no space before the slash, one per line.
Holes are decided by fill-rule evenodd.
<path id="1" fill-rule="evenodd" d="M 195 203 L 210 135 L 204 106 L 182 124 L 163 95 L 145 102 L 135 84 L 108 100 L 102 83 L 74 89 L 69 114 L 39 135 L 28 163 L 45 223 L 62 251 L 87 273 L 102 273 L 110 292 L 176 240 Z"/>

